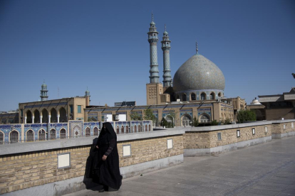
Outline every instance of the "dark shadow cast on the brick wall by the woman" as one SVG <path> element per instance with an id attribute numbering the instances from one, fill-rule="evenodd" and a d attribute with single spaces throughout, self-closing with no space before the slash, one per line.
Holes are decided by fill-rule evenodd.
<path id="1" fill-rule="evenodd" d="M 93 163 L 94 163 L 94 159 L 97 158 L 97 153 L 96 153 L 97 141 L 98 141 L 98 138 L 93 139 L 93 143 L 89 151 L 89 156 L 86 160 L 86 168 L 85 168 L 83 183 L 86 185 L 86 189 L 89 189 L 89 190 L 100 190 L 103 188 L 102 185 L 99 185 L 98 183 L 93 182 Z"/>

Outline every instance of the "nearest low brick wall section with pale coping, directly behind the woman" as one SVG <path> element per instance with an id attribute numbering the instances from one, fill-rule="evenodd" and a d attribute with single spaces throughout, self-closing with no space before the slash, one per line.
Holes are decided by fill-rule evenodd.
<path id="1" fill-rule="evenodd" d="M 183 162 L 184 131 L 118 135 L 120 171 L 128 178 Z M 167 148 L 167 139 L 171 148 Z M 2 145 L 0 193 L 64 195 L 91 187 L 86 165 L 95 137 Z M 123 152 L 130 146 L 130 152 Z M 127 149 L 127 151 L 128 151 Z M 71 166 L 58 168 L 58 155 L 70 153 Z M 123 153 L 129 156 L 123 156 Z"/>

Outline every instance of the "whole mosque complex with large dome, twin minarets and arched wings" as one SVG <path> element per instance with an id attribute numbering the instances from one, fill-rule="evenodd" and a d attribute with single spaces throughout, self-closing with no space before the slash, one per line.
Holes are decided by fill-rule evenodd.
<path id="1" fill-rule="evenodd" d="M 61 123 L 70 120 L 117 121 L 116 116 L 125 116 L 123 121 L 132 121 L 131 113 L 143 116 L 145 109 L 152 109 L 158 126 L 162 119 L 175 126 L 190 126 L 194 119 L 200 123 L 229 119 L 236 120 L 239 109 L 246 107 L 240 97 L 224 97 L 225 79 L 222 71 L 203 55 L 196 53 L 184 62 L 175 73 L 173 80 L 170 70 L 171 40 L 166 31 L 162 36 L 163 80 L 160 82 L 157 62 L 158 32 L 153 20 L 148 31 L 150 43 L 150 82 L 146 84 L 147 104 L 144 106 L 91 106 L 90 92 L 83 97 L 69 97 L 48 100 L 47 85 L 41 86 L 41 101 L 19 104 L 19 113 L 12 115 L 21 124 Z M 6 115 L 7 116 L 7 115 Z M 107 119 L 106 116 L 112 116 Z M 11 118 L 11 117 L 10 117 Z M 122 119 L 120 119 L 122 120 Z M 0 114 L 0 123 L 11 122 Z"/>

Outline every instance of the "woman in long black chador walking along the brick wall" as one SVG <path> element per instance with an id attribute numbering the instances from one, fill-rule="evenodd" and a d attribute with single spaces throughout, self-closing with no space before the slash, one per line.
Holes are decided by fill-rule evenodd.
<path id="1" fill-rule="evenodd" d="M 122 184 L 122 175 L 119 170 L 119 155 L 117 148 L 117 135 L 113 126 L 106 122 L 103 124 L 96 143 L 97 157 L 93 167 L 93 180 L 103 185 L 99 192 L 118 190 Z"/>

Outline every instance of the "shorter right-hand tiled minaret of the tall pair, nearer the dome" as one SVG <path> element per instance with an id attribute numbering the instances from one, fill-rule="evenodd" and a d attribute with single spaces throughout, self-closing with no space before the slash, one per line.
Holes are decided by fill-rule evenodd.
<path id="1" fill-rule="evenodd" d="M 162 43 L 162 50 L 163 50 L 163 86 L 164 87 L 171 87 L 172 79 L 171 79 L 171 70 L 170 70 L 170 43 L 168 33 L 166 31 L 166 25 L 165 25 L 165 31 L 163 33 L 163 40 Z"/>

